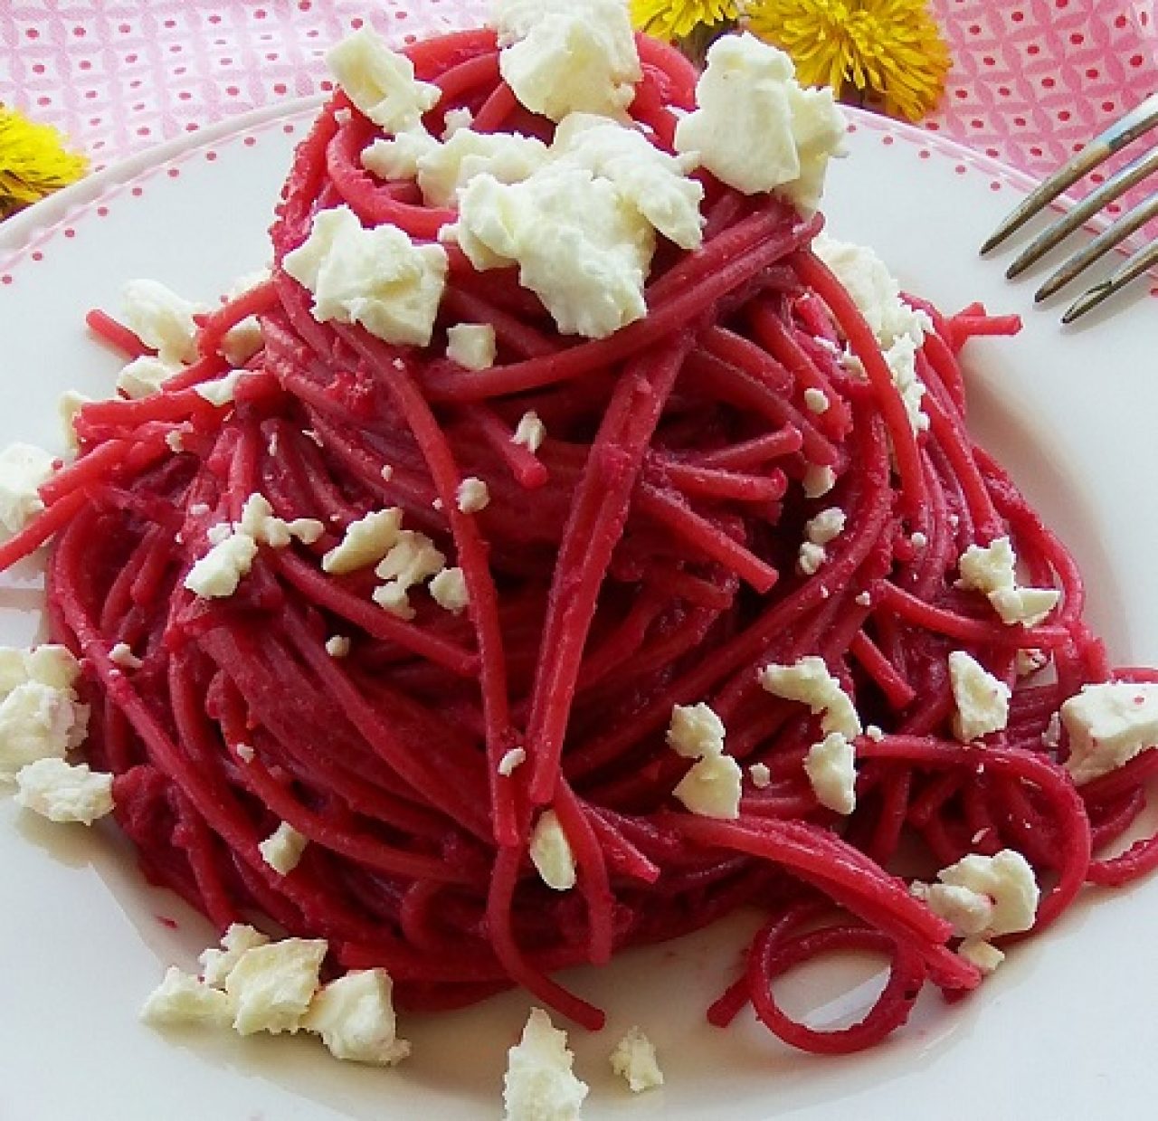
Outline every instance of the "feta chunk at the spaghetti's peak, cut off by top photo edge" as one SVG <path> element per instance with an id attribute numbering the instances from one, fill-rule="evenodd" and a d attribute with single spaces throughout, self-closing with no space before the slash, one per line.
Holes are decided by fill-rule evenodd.
<path id="1" fill-rule="evenodd" d="M 551 120 L 622 113 L 643 72 L 623 0 L 498 0 L 499 72 L 520 104 Z"/>

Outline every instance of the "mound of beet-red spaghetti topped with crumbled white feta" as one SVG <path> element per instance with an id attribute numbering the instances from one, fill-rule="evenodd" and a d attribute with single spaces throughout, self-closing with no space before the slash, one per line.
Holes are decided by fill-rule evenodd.
<path id="1" fill-rule="evenodd" d="M 665 145 L 696 75 L 652 41 L 639 51 L 633 111 Z M 490 32 L 410 56 L 444 91 L 433 133 L 466 108 L 476 129 L 550 139 L 500 81 Z M 889 871 L 902 841 L 916 838 L 932 871 L 969 852 L 1024 852 L 1051 885 L 1035 930 L 1083 882 L 1158 862 L 1148 841 L 1091 863 L 1138 813 L 1155 753 L 1077 791 L 1064 748 L 1043 746 L 1061 703 L 1112 671 L 1082 621 L 1073 563 L 965 428 L 957 353 L 1016 323 L 928 309 L 930 430 L 917 435 L 871 330 L 809 251 L 820 220 L 703 174 L 705 243 L 660 252 L 639 322 L 598 342 L 560 338 L 513 273 L 477 273 L 452 250 L 435 344 L 388 345 L 316 322 L 280 269 L 325 207 L 419 240 L 454 219 L 361 170 L 375 132 L 332 100 L 285 188 L 272 283 L 208 316 L 200 358 L 160 394 L 86 405 L 79 459 L 0 547 L 9 565 L 53 537 L 53 637 L 83 659 L 89 757 L 116 775 L 117 820 L 151 880 L 222 929 L 264 915 L 328 939 L 336 969 L 384 967 L 404 1006 L 519 984 L 592 1028 L 602 1012 L 552 973 L 756 904 L 768 925 L 711 1019 L 750 1001 L 787 1042 L 848 1052 L 902 1024 L 925 982 L 955 995 L 980 980 L 948 923 Z M 235 400 L 214 405 L 197 387 L 225 374 L 221 340 L 251 314 L 264 347 Z M 444 329 L 462 318 L 498 338 L 497 365 L 469 376 L 440 357 Z M 107 317 L 90 322 L 141 352 Z M 811 411 L 807 390 L 829 406 Z M 548 432 L 537 454 L 512 442 L 528 411 Z M 831 470 L 831 493 L 805 496 L 809 468 Z M 468 476 L 490 486 L 476 514 L 456 503 Z M 255 492 L 325 532 L 263 547 L 227 599 L 195 596 L 183 581 L 206 532 Z M 844 532 L 800 574 L 805 523 L 831 505 Z M 353 520 L 388 506 L 461 567 L 466 614 L 422 598 L 400 618 L 371 601 L 365 573 L 322 570 Z M 999 535 L 1036 586 L 1061 589 L 1048 622 L 1004 625 L 955 587 L 962 551 Z M 351 639 L 345 658 L 327 652 L 336 635 Z M 110 658 L 118 643 L 139 669 Z M 1025 647 L 1050 655 L 1056 681 L 1017 676 Z M 1013 690 L 1007 728 L 983 743 L 950 733 L 954 650 Z M 757 683 L 763 666 L 805 654 L 884 731 L 856 741 L 848 819 L 819 806 L 802 770 L 816 719 Z M 761 789 L 745 784 L 736 820 L 673 799 L 689 763 L 665 728 L 674 705 L 701 701 L 726 724 L 728 754 L 768 768 Z M 516 747 L 526 762 L 504 772 Z M 551 891 L 529 864 L 542 807 L 570 840 L 574 891 Z M 286 875 L 258 851 L 280 822 L 309 840 Z M 843 948 L 889 959 L 873 1009 L 831 1034 L 790 1020 L 772 981 Z"/>

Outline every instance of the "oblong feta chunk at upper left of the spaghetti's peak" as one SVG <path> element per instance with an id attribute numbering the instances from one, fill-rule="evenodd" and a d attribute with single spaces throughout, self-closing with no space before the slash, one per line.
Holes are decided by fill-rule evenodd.
<path id="1" fill-rule="evenodd" d="M 325 64 L 354 105 L 387 132 L 417 127 L 441 96 L 438 86 L 415 79 L 405 54 L 366 27 L 330 47 Z"/>

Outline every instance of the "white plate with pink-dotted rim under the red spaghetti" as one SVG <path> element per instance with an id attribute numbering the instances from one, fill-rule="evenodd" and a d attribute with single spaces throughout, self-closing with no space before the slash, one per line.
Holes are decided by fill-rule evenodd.
<path id="1" fill-rule="evenodd" d="M 108 396 L 117 364 L 86 334 L 94 306 L 155 277 L 211 299 L 267 257 L 265 229 L 309 111 L 258 113 L 157 149 L 0 228 L 0 446 L 60 447 L 56 401 Z M 1012 205 L 1012 173 L 925 133 L 856 115 L 827 200 L 837 236 L 875 246 L 904 284 L 947 309 L 1028 309 L 975 247 Z M 1027 314 L 1016 340 L 968 352 L 974 428 L 1077 552 L 1091 615 L 1119 662 L 1158 662 L 1158 316 L 1146 287 L 1111 320 L 1063 332 Z M 1151 485 L 1148 485 L 1151 484 Z M 0 585 L 0 640 L 39 622 L 36 569 Z M 192 967 L 207 925 L 146 887 L 112 830 L 31 821 L 0 804 L 0 1118 L 3 1121 L 322 1121 L 498 1118 L 505 1050 L 526 1017 L 512 994 L 406 1017 L 413 1057 L 393 1071 L 340 1064 L 312 1039 L 162 1036 L 137 1010 L 164 966 Z M 1097 904 L 1097 906 L 1093 906 Z M 726 1032 L 705 1005 L 735 968 L 739 919 L 569 981 L 609 1009 L 573 1033 L 591 1082 L 585 1116 L 835 1121 L 1148 1114 L 1158 1092 L 1158 882 L 1089 892 L 1019 946 L 972 999 L 924 1001 L 875 1052 L 816 1060 L 750 1016 Z M 174 929 L 174 922 L 176 926 Z M 840 979 L 798 986 L 823 1005 Z M 831 990 L 828 992 L 827 990 Z M 607 1053 L 630 1024 L 655 1041 L 667 1085 L 632 1098 Z M 852 1099 L 855 1098 L 855 1102 Z"/>

